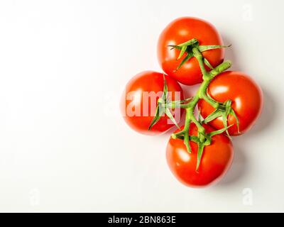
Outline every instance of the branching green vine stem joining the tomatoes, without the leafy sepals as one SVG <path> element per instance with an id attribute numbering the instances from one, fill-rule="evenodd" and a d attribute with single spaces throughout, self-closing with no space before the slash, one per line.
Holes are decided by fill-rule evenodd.
<path id="1" fill-rule="evenodd" d="M 192 48 L 192 52 L 193 52 L 194 57 L 196 57 L 199 65 L 200 65 L 200 70 L 202 72 L 203 82 L 200 86 L 200 89 L 198 89 L 197 94 L 195 94 L 195 96 L 193 96 L 192 100 L 190 102 L 188 102 L 187 104 L 181 104 L 180 105 L 180 107 L 184 108 L 185 111 L 186 111 L 185 127 L 179 133 L 173 133 L 173 135 L 172 135 L 172 138 L 177 138 L 178 136 L 183 135 L 184 136 L 184 143 L 187 146 L 187 150 L 189 152 L 190 152 L 190 147 L 189 147 L 188 142 L 189 142 L 189 130 L 190 130 L 190 123 L 191 122 L 195 123 L 195 125 L 197 126 L 198 137 L 200 138 L 200 142 L 204 143 L 204 141 L 206 139 L 204 137 L 205 128 L 202 126 L 200 121 L 198 121 L 197 118 L 195 118 L 195 115 L 194 115 L 195 107 L 197 106 L 197 103 L 200 99 L 204 99 L 210 105 L 212 105 L 215 109 L 217 109 L 219 106 L 222 105 L 219 102 L 212 99 L 210 96 L 208 96 L 207 88 L 208 88 L 210 82 L 212 81 L 212 79 L 214 77 L 216 77 L 218 74 L 220 74 L 221 72 L 224 72 L 225 70 L 229 69 L 229 67 L 231 67 L 231 62 L 226 61 L 226 62 L 223 62 L 222 64 L 218 65 L 217 67 L 215 67 L 210 72 L 207 72 L 205 65 L 204 65 L 204 57 L 202 56 L 202 53 L 200 52 L 200 50 L 198 50 L 197 48 Z"/>

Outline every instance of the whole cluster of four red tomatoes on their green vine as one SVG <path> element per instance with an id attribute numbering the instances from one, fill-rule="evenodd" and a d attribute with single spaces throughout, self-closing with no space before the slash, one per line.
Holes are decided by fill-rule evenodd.
<path id="1" fill-rule="evenodd" d="M 261 114 L 258 84 L 243 72 L 225 72 L 231 66 L 224 62 L 226 47 L 211 23 L 178 18 L 158 40 L 158 62 L 165 73 L 137 74 L 121 98 L 124 120 L 133 130 L 157 135 L 178 127 L 166 158 L 173 175 L 189 187 L 207 186 L 226 174 L 234 156 L 230 136 L 249 131 Z M 201 85 L 185 99 L 179 83 Z M 185 123 L 179 127 L 183 112 Z"/>

